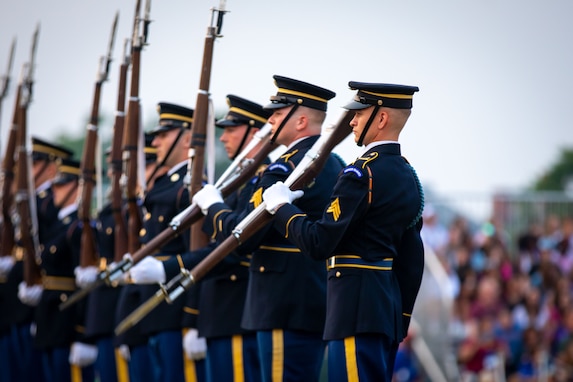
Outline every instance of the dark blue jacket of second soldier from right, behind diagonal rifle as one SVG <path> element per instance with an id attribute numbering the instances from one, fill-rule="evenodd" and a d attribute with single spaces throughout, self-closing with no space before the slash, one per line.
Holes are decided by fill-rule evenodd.
<path id="1" fill-rule="evenodd" d="M 209 208 L 206 220 L 219 232 L 229 236 L 236 223 L 257 207 L 262 192 L 277 181 L 284 181 L 316 142 L 318 136 L 306 138 L 288 149 L 270 164 L 258 180 L 246 211 L 232 212 L 218 203 Z M 342 169 L 342 161 L 330 155 L 316 180 L 305 189 L 297 205 L 309 216 L 318 219 L 328 203 L 328 196 Z M 263 228 L 243 250 L 253 250 L 249 285 L 242 327 L 249 330 L 302 330 L 322 332 L 326 313 L 326 266 L 300 253 L 283 235 Z M 241 248 L 240 247 L 240 248 Z"/>

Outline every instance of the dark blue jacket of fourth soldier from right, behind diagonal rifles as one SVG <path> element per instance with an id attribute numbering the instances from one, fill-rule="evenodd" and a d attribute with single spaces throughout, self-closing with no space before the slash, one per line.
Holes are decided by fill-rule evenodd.
<path id="1" fill-rule="evenodd" d="M 189 191 L 183 184 L 187 174 L 187 166 L 182 166 L 173 174 L 158 177 L 148 194 L 145 196 L 144 206 L 146 216 L 141 231 L 143 245 L 169 227 L 171 219 L 189 205 Z M 189 250 L 189 230 L 173 238 L 154 255 L 158 260 L 165 261 L 172 256 L 180 256 Z M 140 285 L 141 303 L 147 301 L 157 291 L 157 285 Z M 173 303 L 162 302 L 141 320 L 142 331 L 152 335 L 166 330 L 182 328 L 184 320 L 183 309 L 186 304 L 186 295 L 176 299 Z M 198 307 L 190 307 L 197 312 Z M 192 313 L 196 316 L 196 313 Z"/>

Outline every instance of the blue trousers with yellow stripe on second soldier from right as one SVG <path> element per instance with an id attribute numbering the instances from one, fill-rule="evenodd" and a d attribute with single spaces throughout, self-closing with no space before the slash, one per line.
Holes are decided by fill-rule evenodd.
<path id="1" fill-rule="evenodd" d="M 326 342 L 319 333 L 274 329 L 257 332 L 264 382 L 316 382 Z"/>

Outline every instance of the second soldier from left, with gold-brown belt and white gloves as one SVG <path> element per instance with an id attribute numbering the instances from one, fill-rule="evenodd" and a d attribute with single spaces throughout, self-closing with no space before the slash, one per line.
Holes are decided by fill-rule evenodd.
<path id="1" fill-rule="evenodd" d="M 41 351 L 47 381 L 71 381 L 79 377 L 94 380 L 93 362 L 97 348 L 84 333 L 85 306 L 59 310 L 59 305 L 76 290 L 74 269 L 79 264 L 81 224 L 76 197 L 79 162 L 62 159 L 53 180 L 54 204 L 58 221 L 46 229 L 41 254 L 42 284 L 19 285 L 22 302 L 36 306 L 34 344 Z"/>

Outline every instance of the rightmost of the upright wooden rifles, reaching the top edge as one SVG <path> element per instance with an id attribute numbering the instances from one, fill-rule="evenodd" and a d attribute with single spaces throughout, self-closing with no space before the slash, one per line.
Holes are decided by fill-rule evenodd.
<path id="1" fill-rule="evenodd" d="M 189 198 L 192 198 L 203 186 L 204 158 L 205 158 L 205 138 L 207 135 L 207 123 L 209 117 L 209 86 L 211 82 L 211 67 L 213 62 L 213 48 L 215 39 L 222 37 L 223 16 L 226 0 L 221 0 L 219 8 L 211 8 L 211 23 L 207 27 L 207 36 L 203 48 L 203 65 L 201 68 L 201 79 L 199 81 L 199 91 L 197 93 L 197 103 L 193 114 L 193 128 L 191 131 L 191 147 L 189 149 L 189 166 L 186 181 L 189 182 Z M 215 13 L 217 21 L 214 24 Z M 191 226 L 190 249 L 198 249 L 207 243 L 205 234 L 198 224 Z"/>

